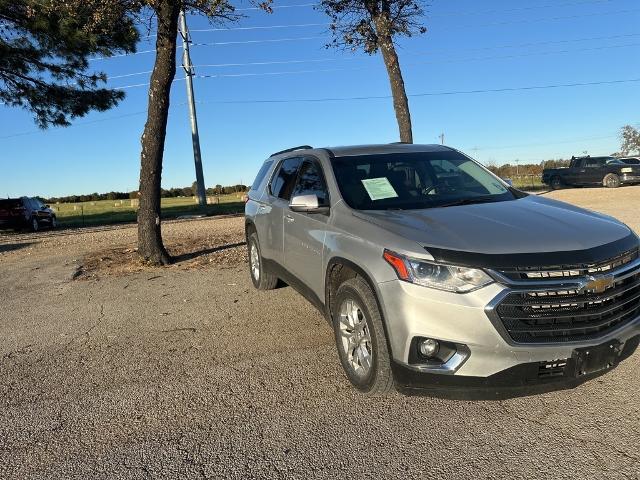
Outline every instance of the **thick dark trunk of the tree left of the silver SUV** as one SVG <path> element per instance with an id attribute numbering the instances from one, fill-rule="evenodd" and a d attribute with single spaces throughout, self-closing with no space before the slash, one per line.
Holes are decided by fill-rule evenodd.
<path id="1" fill-rule="evenodd" d="M 162 157 L 169 116 L 169 94 L 176 73 L 176 36 L 180 2 L 161 0 L 155 7 L 158 22 L 156 61 L 149 86 L 147 123 L 140 143 L 140 208 L 138 254 L 152 265 L 167 265 L 171 257 L 162 243 L 160 188 Z"/>

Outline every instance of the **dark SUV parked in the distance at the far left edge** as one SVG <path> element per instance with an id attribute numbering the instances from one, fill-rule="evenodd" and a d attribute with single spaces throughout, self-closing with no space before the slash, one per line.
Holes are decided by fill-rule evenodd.
<path id="1" fill-rule="evenodd" d="M 0 228 L 29 228 L 57 226 L 56 214 L 37 198 L 20 197 L 0 199 Z"/>

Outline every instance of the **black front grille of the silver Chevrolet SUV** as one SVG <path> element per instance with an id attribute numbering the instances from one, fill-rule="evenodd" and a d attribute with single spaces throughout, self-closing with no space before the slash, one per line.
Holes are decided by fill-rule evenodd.
<path id="1" fill-rule="evenodd" d="M 601 265 L 611 264 L 614 262 Z M 516 343 L 602 337 L 640 317 L 640 263 L 619 264 L 608 274 L 613 275 L 611 285 L 598 293 L 584 288 L 582 281 L 587 276 L 568 280 L 561 288 L 557 283 L 550 287 L 549 280 L 546 284 L 542 280 L 514 282 L 520 289 L 506 295 L 495 313 Z"/>

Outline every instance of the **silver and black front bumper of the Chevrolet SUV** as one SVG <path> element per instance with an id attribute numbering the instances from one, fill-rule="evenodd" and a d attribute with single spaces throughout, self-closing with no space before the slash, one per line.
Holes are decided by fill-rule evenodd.
<path id="1" fill-rule="evenodd" d="M 449 393 L 492 389 L 532 392 L 569 388 L 598 374 L 577 377 L 574 354 L 577 349 L 619 341 L 626 358 L 636 350 L 640 338 L 640 317 L 607 335 L 588 341 L 548 344 L 509 342 L 499 332 L 487 306 L 509 291 L 494 283 L 475 292 L 460 295 L 427 289 L 399 280 L 378 284 L 380 304 L 387 325 L 396 383 L 400 387 L 445 389 Z M 429 337 L 462 345 L 468 355 L 455 365 L 433 368 L 410 362 L 412 339 Z M 562 376 L 544 378 L 541 365 L 563 360 L 567 362 Z M 451 367 L 451 368 L 449 368 Z M 606 370 L 605 370 L 606 371 Z M 523 389 L 523 387 L 526 387 Z M 515 394 L 515 393 L 513 393 Z M 490 395 L 491 396 L 491 395 Z M 512 396 L 512 394 L 508 394 Z"/>

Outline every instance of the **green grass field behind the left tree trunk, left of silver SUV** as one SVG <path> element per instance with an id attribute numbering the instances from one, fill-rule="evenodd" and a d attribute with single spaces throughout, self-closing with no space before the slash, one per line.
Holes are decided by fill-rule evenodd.
<path id="1" fill-rule="evenodd" d="M 163 198 L 162 218 L 171 219 L 182 215 L 222 215 L 244 211 L 242 193 L 220 195 L 219 204 L 200 207 L 193 197 Z M 137 206 L 131 200 L 100 200 L 96 202 L 58 203 L 51 208 L 56 212 L 62 227 L 110 225 L 135 222 Z"/>

